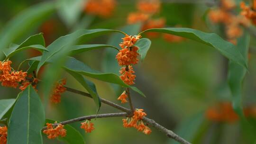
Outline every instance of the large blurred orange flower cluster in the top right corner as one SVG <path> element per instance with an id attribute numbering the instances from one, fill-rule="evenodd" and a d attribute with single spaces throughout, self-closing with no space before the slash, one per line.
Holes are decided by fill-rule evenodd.
<path id="1" fill-rule="evenodd" d="M 223 24 L 228 41 L 236 45 L 243 34 L 241 26 L 248 27 L 250 22 L 243 15 L 235 15 L 235 8 L 234 0 L 220 0 L 220 7 L 210 10 L 209 18 L 213 23 Z"/>

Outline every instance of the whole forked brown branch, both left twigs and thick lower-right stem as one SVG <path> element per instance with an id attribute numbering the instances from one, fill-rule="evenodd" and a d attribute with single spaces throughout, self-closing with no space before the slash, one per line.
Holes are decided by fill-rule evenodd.
<path id="1" fill-rule="evenodd" d="M 67 89 L 67 91 L 70 91 L 70 92 L 73 92 L 73 93 L 76 93 L 76 94 L 80 94 L 80 95 L 83 95 L 83 96 L 86 96 L 86 97 L 89 97 L 89 98 L 92 98 L 91 95 L 89 93 L 86 93 L 86 92 L 82 92 L 80 90 L 75 90 L 75 89 L 72 89 L 72 88 L 68 88 L 68 87 L 65 87 Z M 126 116 L 126 117 L 130 117 L 132 115 L 132 113 L 130 113 L 131 111 L 128 109 L 128 108 L 124 108 L 122 106 L 119 106 L 118 104 L 115 104 L 107 99 L 102 99 L 101 98 L 101 102 L 107 104 L 107 105 L 110 105 L 114 108 L 118 108 L 119 110 L 121 111 L 124 111 L 126 113 L 116 113 L 116 115 L 121 115 L 121 116 Z M 100 114 L 100 115 L 97 115 L 97 118 L 101 118 L 102 116 L 101 115 L 106 115 L 106 114 Z M 93 116 L 93 117 L 91 117 Z M 91 115 L 91 116 L 85 116 L 85 117 L 78 117 L 78 118 L 74 118 L 76 121 L 74 121 L 73 119 L 71 120 L 67 120 L 67 121 L 64 121 L 64 122 L 61 122 L 59 124 L 68 124 L 68 123 L 72 123 L 72 122 L 77 122 L 77 121 L 80 121 L 79 118 L 87 118 L 87 119 L 91 119 L 91 118 L 95 118 L 96 115 Z M 116 117 L 121 117 L 121 116 L 116 116 Z M 90 118 L 91 117 L 91 118 Z M 85 119 L 83 119 L 85 120 Z M 81 120 L 82 121 L 82 120 Z M 165 135 L 167 135 L 167 137 L 169 138 L 172 138 L 174 139 L 175 141 L 181 143 L 181 144 L 191 144 L 189 142 L 187 142 L 186 140 L 184 140 L 182 137 L 180 137 L 179 135 L 176 135 L 173 131 L 171 130 L 168 130 L 167 128 L 165 128 L 164 126 L 161 126 L 160 124 L 156 123 L 155 120 L 153 119 L 150 119 L 150 118 L 147 118 L 147 117 L 144 117 L 143 118 L 143 121 L 145 123 L 147 123 L 148 125 L 150 126 L 153 126 L 155 127 L 157 130 L 159 130 L 160 132 L 163 132 L 165 133 Z M 68 122 L 68 123 L 67 123 Z M 45 127 L 44 127 L 45 128 Z"/>

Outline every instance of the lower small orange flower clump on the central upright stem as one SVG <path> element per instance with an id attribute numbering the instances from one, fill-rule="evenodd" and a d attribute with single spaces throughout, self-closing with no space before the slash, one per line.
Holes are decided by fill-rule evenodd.
<path id="1" fill-rule="evenodd" d="M 131 65 L 128 66 L 128 70 L 126 70 L 126 67 L 123 67 L 119 72 L 121 74 L 120 78 L 122 81 L 124 81 L 124 83 L 128 85 L 134 84 L 136 75 L 133 74 L 135 72 L 133 71 L 133 68 Z"/>

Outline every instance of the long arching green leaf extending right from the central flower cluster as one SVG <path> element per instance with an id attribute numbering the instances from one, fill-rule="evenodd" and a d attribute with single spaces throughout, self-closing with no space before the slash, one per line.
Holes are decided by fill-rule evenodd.
<path id="1" fill-rule="evenodd" d="M 214 47 L 221 54 L 226 56 L 228 59 L 247 68 L 246 60 L 243 57 L 243 55 L 238 51 L 236 46 L 223 40 L 217 34 L 205 33 L 200 30 L 191 29 L 191 28 L 173 28 L 173 27 L 147 29 L 141 32 L 140 34 L 145 32 L 162 32 L 162 33 L 167 33 L 175 36 L 182 36 L 185 38 L 192 39 L 202 44 Z"/>

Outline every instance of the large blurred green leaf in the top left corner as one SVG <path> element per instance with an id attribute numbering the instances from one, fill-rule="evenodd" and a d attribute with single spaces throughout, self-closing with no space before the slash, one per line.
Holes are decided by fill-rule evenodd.
<path id="1" fill-rule="evenodd" d="M 55 1 L 50 1 L 32 6 L 18 14 L 2 28 L 0 49 L 7 48 L 10 43 L 27 34 L 28 28 L 38 27 L 54 9 Z"/>

